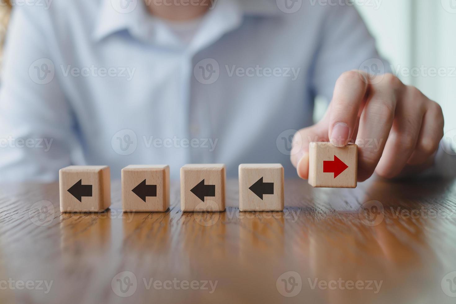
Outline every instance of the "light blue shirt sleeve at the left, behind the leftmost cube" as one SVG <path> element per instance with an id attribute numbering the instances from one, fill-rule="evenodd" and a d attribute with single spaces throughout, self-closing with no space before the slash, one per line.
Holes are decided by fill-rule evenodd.
<path id="1" fill-rule="evenodd" d="M 25 5 L 10 19 L 0 82 L 0 182 L 57 180 L 78 142 L 46 14 Z"/>

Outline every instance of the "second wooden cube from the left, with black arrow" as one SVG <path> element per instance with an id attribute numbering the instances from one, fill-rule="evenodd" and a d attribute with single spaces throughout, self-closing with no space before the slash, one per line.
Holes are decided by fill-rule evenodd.
<path id="1" fill-rule="evenodd" d="M 129 165 L 122 169 L 124 211 L 164 212 L 170 206 L 168 165 Z"/>

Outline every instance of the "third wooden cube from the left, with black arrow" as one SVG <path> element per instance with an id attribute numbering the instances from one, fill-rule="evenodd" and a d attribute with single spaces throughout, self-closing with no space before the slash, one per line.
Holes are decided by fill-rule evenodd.
<path id="1" fill-rule="evenodd" d="M 225 165 L 184 165 L 181 168 L 181 210 L 224 211 L 225 179 Z"/>

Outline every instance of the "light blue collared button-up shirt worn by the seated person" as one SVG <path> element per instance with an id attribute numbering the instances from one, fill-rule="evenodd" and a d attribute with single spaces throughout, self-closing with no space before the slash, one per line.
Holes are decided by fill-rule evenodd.
<path id="1" fill-rule="evenodd" d="M 16 7 L 0 90 L 0 180 L 70 164 L 290 163 L 314 98 L 376 60 L 352 6 L 218 0 L 187 44 L 142 0 Z M 43 1 L 40 1 L 43 3 Z M 46 3 L 46 2 L 44 2 Z M 312 5 L 312 3 L 316 3 Z M 286 4 L 286 5 L 285 5 Z M 293 5 L 299 5 L 296 9 Z"/>

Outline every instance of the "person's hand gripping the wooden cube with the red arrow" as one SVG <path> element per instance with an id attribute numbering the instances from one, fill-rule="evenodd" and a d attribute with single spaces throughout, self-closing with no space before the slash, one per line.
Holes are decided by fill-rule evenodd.
<path id="1" fill-rule="evenodd" d="M 309 143 L 358 144 L 358 181 L 373 172 L 394 178 L 406 170 L 432 165 L 443 137 L 439 104 L 392 74 L 371 77 L 362 71 L 342 74 L 320 122 L 299 130 L 291 162 L 298 175 L 309 175 Z"/>

